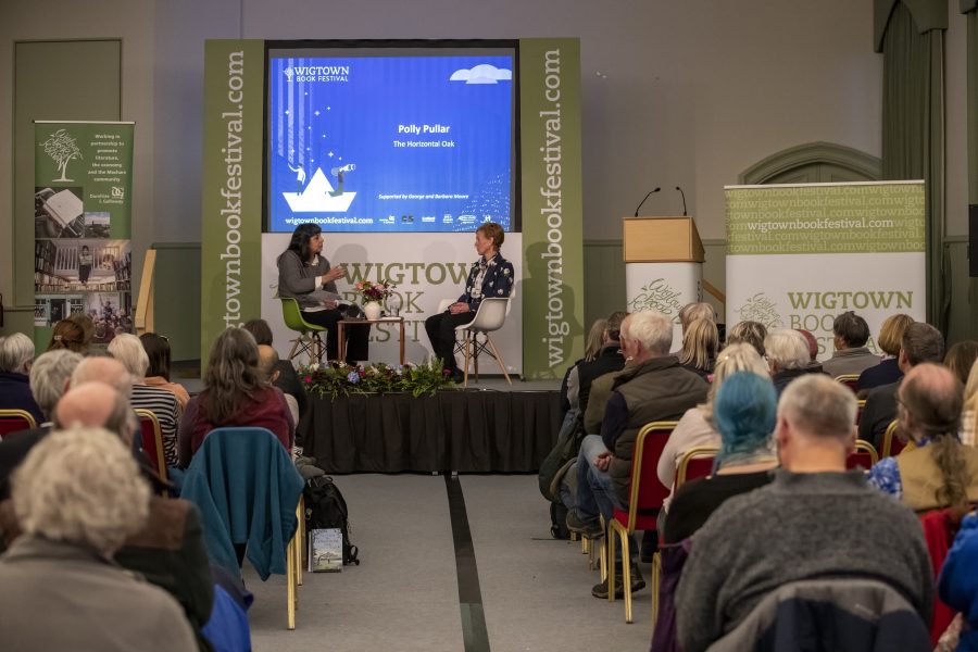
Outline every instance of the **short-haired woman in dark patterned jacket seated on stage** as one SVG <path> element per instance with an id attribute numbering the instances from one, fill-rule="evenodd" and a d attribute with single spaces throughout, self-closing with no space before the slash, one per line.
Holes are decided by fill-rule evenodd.
<path id="1" fill-rule="evenodd" d="M 455 380 L 461 380 L 463 375 L 455 363 L 455 326 L 472 322 L 482 299 L 509 297 L 513 290 L 513 263 L 499 252 L 504 238 L 505 233 L 494 222 L 476 229 L 475 249 L 479 260 L 468 271 L 465 292 L 447 311 L 425 321 L 435 355 Z"/>

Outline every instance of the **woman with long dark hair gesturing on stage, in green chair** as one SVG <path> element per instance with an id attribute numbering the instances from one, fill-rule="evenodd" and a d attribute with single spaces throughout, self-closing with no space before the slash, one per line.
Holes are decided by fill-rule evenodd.
<path id="1" fill-rule="evenodd" d="M 278 296 L 299 302 L 302 318 L 326 328 L 326 355 L 336 360 L 339 351 L 337 322 L 346 315 L 339 310 L 341 299 L 336 280 L 347 275 L 342 265 L 333 267 L 323 252 L 323 229 L 317 224 L 300 224 L 292 231 L 289 248 L 278 256 Z M 367 360 L 369 325 L 344 328 L 347 362 Z"/>

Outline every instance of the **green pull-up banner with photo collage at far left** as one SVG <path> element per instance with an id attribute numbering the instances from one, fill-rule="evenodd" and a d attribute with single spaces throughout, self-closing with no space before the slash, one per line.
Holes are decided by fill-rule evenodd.
<path id="1" fill-rule="evenodd" d="M 91 318 L 92 344 L 133 331 L 133 123 L 36 122 L 34 326 Z"/>

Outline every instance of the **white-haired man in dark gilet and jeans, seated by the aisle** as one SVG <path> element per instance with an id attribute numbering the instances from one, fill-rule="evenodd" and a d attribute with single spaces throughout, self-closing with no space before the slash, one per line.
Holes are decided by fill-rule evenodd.
<path id="1" fill-rule="evenodd" d="M 572 531 L 592 538 L 603 536 L 599 516 L 610 522 L 614 507 L 627 509 L 631 454 L 638 431 L 650 422 L 678 419 L 706 398 L 709 385 L 668 354 L 672 343 L 673 325 L 659 313 L 635 313 L 622 323 L 622 348 L 632 364 L 615 378 L 601 435 L 588 435 L 581 442 L 577 504 L 567 514 L 567 527 Z M 630 554 L 635 550 L 631 546 Z M 635 567 L 630 590 L 644 586 Z M 623 587 L 624 582 L 613 590 L 624 595 Z M 606 580 L 591 590 L 595 598 L 607 598 L 607 593 Z"/>

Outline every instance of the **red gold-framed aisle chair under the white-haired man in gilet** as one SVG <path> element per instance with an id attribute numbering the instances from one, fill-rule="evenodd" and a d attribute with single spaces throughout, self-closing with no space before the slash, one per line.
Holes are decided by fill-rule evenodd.
<path id="1" fill-rule="evenodd" d="M 631 486 L 628 510 L 615 509 L 607 529 L 607 592 L 609 602 L 614 602 L 615 591 L 615 539 L 622 541 L 622 575 L 625 587 L 625 622 L 631 623 L 631 566 L 628 563 L 629 538 L 635 530 L 656 531 L 656 517 L 669 490 L 659 481 L 659 459 L 665 449 L 666 440 L 676 428 L 678 422 L 653 422 L 645 424 L 635 439 L 631 457 Z M 652 566 L 652 586 L 659 586 L 656 567 Z M 659 597 L 652 595 L 652 610 L 657 609 Z"/>

